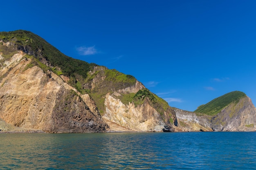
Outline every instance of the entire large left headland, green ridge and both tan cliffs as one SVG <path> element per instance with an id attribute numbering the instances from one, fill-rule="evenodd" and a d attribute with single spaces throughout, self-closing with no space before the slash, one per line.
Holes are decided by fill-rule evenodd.
<path id="1" fill-rule="evenodd" d="M 175 112 L 133 76 L 67 57 L 29 31 L 0 33 L 0 52 L 0 118 L 9 124 L 47 132 L 175 130 Z"/>

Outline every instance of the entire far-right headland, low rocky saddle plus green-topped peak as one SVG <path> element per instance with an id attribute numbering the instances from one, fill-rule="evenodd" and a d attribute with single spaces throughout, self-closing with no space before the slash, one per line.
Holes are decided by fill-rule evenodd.
<path id="1" fill-rule="evenodd" d="M 227 93 L 195 112 L 174 111 L 177 131 L 256 131 L 256 108 L 243 92 Z"/>

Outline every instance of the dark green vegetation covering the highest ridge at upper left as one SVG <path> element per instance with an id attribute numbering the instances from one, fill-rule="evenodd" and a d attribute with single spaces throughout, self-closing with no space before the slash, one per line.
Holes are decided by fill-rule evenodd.
<path id="1" fill-rule="evenodd" d="M 54 46 L 47 43 L 43 38 L 29 31 L 18 30 L 0 32 L 0 39 L 4 42 L 9 41 L 12 43 L 13 46 L 16 46 L 17 48 L 15 50 L 22 50 L 29 55 L 34 55 L 39 61 L 44 58 L 51 63 L 52 67 L 59 67 L 61 70 L 58 70 L 56 74 L 63 74 L 71 77 L 75 77 L 75 74 L 79 74 L 86 78 L 87 72 L 96 66 L 94 63 L 89 64 L 85 61 L 66 56 Z M 11 52 L 6 55 L 11 55 Z"/>

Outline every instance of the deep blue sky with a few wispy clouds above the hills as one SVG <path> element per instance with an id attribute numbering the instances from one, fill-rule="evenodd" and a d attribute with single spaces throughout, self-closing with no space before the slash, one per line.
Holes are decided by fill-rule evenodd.
<path id="1" fill-rule="evenodd" d="M 242 91 L 256 103 L 256 0 L 4 0 L 0 31 L 135 76 L 194 111 Z"/>

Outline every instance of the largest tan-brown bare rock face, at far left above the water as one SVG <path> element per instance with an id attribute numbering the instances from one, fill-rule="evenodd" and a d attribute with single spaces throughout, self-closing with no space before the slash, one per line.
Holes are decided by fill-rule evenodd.
<path id="1" fill-rule="evenodd" d="M 0 68 L 2 120 L 18 127 L 54 133 L 106 131 L 107 124 L 96 109 L 90 110 L 76 89 L 38 66 L 27 69 L 30 59 L 22 59 L 24 55 L 23 52 L 14 54 Z"/>

